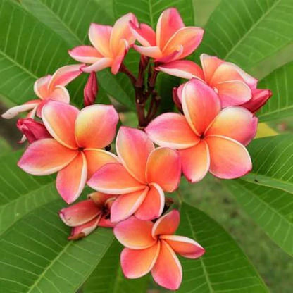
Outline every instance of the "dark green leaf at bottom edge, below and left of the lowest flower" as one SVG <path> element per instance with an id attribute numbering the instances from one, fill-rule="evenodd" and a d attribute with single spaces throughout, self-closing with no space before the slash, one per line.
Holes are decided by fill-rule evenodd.
<path id="1" fill-rule="evenodd" d="M 138 279 L 126 279 L 120 268 L 122 245 L 114 240 L 111 247 L 82 286 L 84 293 L 145 293 L 149 275 Z"/>

